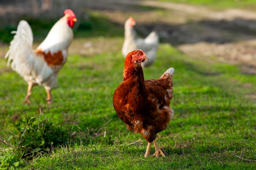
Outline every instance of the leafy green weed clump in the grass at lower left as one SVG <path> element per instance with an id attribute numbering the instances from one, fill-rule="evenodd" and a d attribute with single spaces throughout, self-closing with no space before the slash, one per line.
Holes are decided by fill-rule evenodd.
<path id="1" fill-rule="evenodd" d="M 0 169 L 22 166 L 26 160 L 50 153 L 54 147 L 67 144 L 67 132 L 61 126 L 54 126 L 46 118 L 41 120 L 41 115 L 43 113 L 39 117 L 27 116 L 9 121 L 16 132 L 11 132 L 7 140 L 0 140 L 9 146 L 4 152 L 0 152 Z"/>

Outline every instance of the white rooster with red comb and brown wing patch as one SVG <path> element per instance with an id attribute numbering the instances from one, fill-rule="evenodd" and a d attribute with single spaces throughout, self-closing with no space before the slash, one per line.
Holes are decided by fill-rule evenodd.
<path id="1" fill-rule="evenodd" d="M 13 71 L 28 83 L 24 101 L 27 104 L 30 104 L 29 96 L 35 85 L 44 86 L 47 103 L 52 104 L 51 90 L 57 82 L 58 71 L 67 60 L 67 49 L 74 36 L 72 27 L 76 22 L 76 15 L 71 9 L 66 9 L 64 14 L 36 50 L 32 49 L 33 33 L 25 20 L 21 20 L 17 31 L 13 31 L 16 35 L 4 58 L 8 57 L 7 65 L 11 64 Z"/>

